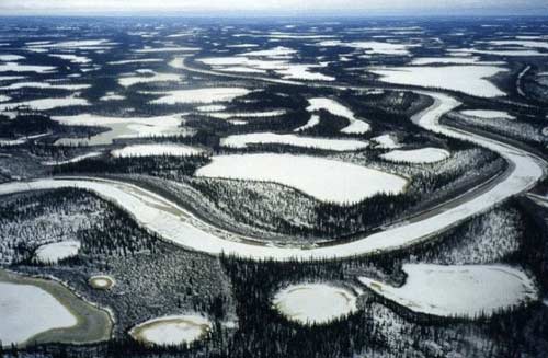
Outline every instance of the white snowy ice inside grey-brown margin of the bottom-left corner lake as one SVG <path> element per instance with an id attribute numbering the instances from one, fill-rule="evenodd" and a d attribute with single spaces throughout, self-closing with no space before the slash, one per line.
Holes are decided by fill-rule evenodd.
<path id="1" fill-rule="evenodd" d="M 24 344 L 42 332 L 78 323 L 67 308 L 39 287 L 0 282 L 0 338 L 4 346 Z"/>

